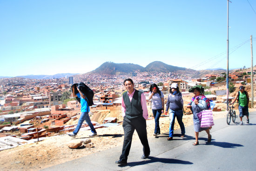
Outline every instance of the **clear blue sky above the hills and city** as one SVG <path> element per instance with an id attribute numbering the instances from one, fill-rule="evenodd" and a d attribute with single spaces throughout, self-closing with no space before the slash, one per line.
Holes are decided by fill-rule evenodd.
<path id="1" fill-rule="evenodd" d="M 231 1 L 229 69 L 249 68 L 256 0 Z M 0 76 L 86 73 L 107 61 L 227 67 L 227 0 L 0 0 L 0 22 Z"/>

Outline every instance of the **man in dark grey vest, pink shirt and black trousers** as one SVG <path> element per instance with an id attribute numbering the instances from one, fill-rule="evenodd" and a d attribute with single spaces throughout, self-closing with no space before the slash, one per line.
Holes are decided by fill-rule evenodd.
<path id="1" fill-rule="evenodd" d="M 115 161 L 115 163 L 120 165 L 127 164 L 134 130 L 138 133 L 141 144 L 143 145 L 143 155 L 141 158 L 148 158 L 150 154 L 146 129 L 146 120 L 148 119 L 146 97 L 144 93 L 134 89 L 132 79 L 128 78 L 124 80 L 123 84 L 127 89 L 122 95 L 124 140 L 120 160 Z"/>

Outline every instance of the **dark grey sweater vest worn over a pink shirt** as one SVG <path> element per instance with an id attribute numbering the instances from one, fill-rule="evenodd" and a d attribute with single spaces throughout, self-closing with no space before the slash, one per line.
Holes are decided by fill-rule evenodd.
<path id="1" fill-rule="evenodd" d="M 132 100 L 130 101 L 128 92 L 123 94 L 123 101 L 126 106 L 125 117 L 128 119 L 135 119 L 143 116 L 143 110 L 141 107 L 141 91 L 135 89 Z"/>

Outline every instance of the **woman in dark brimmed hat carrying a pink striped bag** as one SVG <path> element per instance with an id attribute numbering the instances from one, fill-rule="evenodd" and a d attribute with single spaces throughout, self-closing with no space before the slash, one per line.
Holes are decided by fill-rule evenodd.
<path id="1" fill-rule="evenodd" d="M 190 108 L 193 112 L 193 121 L 194 121 L 194 131 L 195 131 L 195 142 L 193 143 L 194 146 L 198 145 L 198 134 L 201 131 L 206 131 L 208 134 L 208 141 L 211 142 L 211 134 L 210 134 L 210 128 L 209 127 L 200 127 L 201 122 L 198 119 L 197 114 L 202 112 L 203 110 L 207 110 L 210 108 L 209 100 L 203 95 L 204 94 L 204 88 L 202 85 L 196 85 L 189 89 L 190 93 L 194 93 L 194 97 L 192 97 L 191 101 L 187 105 L 187 108 Z"/>

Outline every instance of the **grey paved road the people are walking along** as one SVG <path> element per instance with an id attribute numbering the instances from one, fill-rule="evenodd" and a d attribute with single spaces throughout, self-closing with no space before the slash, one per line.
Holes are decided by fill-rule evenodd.
<path id="1" fill-rule="evenodd" d="M 215 120 L 211 129 L 212 142 L 207 144 L 207 134 L 199 133 L 199 145 L 193 146 L 193 126 L 186 127 L 186 137 L 167 141 L 168 133 L 150 138 L 150 157 L 141 159 L 142 145 L 133 142 L 128 165 L 115 164 L 121 154 L 121 146 L 97 152 L 42 171 L 256 171 L 256 112 L 249 114 L 250 124 L 226 124 L 226 118 Z M 246 122 L 246 117 L 243 118 Z"/>

